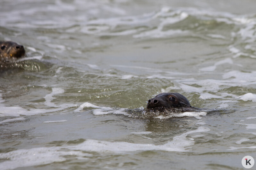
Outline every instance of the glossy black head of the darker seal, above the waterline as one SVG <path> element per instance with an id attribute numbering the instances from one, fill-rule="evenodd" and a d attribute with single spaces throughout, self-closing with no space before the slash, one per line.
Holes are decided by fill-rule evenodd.
<path id="1" fill-rule="evenodd" d="M 188 99 L 179 93 L 161 93 L 148 100 L 147 109 L 169 109 L 191 106 Z"/>

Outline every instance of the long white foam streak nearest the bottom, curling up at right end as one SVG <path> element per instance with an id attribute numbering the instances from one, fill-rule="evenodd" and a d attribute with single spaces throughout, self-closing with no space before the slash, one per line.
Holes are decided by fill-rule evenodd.
<path id="1" fill-rule="evenodd" d="M 172 141 L 162 145 L 137 144 L 128 142 L 108 142 L 98 140 L 86 140 L 83 143 L 74 146 L 59 147 L 41 147 L 32 149 L 20 149 L 7 153 L 0 153 L 0 159 L 8 159 L 0 162 L 1 170 L 15 169 L 18 167 L 45 165 L 53 162 L 65 161 L 67 156 L 73 156 L 77 159 L 91 157 L 92 154 L 85 152 L 93 151 L 99 153 L 117 153 L 129 154 L 134 151 L 169 151 L 186 152 L 188 146 L 194 145 L 193 138 L 187 138 L 187 135 L 193 133 L 208 132 L 210 129 L 199 127 L 181 135 L 175 136 Z M 199 136 L 195 136 L 199 137 Z"/>

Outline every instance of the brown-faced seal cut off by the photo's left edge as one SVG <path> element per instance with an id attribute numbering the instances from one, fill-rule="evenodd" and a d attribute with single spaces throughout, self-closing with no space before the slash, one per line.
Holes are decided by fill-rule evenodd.
<path id="1" fill-rule="evenodd" d="M 9 61 L 25 55 L 22 45 L 12 41 L 0 41 L 0 61 Z"/>

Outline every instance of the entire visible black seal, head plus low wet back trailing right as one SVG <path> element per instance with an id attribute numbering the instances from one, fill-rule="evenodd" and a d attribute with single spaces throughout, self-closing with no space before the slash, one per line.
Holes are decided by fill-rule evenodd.
<path id="1" fill-rule="evenodd" d="M 150 111 L 168 112 L 198 112 L 202 109 L 193 107 L 188 99 L 179 93 L 161 93 L 148 100 Z"/>

